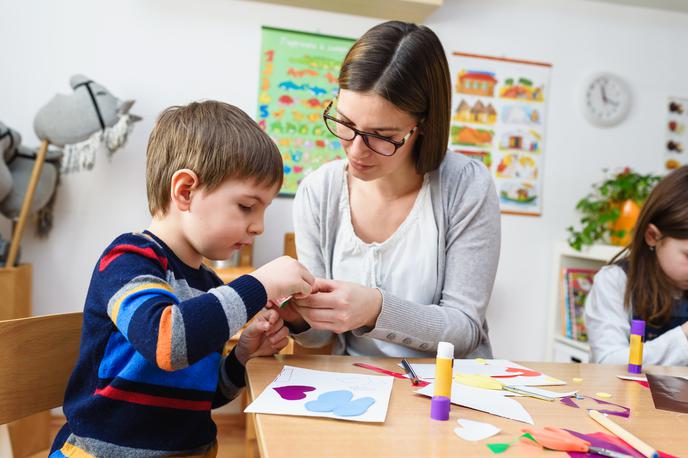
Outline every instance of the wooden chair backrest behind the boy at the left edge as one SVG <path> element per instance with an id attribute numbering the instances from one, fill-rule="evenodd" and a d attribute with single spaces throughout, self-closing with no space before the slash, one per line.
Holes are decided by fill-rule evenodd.
<path id="1" fill-rule="evenodd" d="M 0 425 L 62 405 L 83 313 L 0 321 Z"/>

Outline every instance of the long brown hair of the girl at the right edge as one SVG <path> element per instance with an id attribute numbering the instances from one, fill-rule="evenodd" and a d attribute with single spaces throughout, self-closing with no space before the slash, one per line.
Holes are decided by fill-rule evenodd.
<path id="1" fill-rule="evenodd" d="M 661 269 L 656 253 L 645 243 L 645 233 L 654 224 L 661 237 L 688 239 L 688 166 L 665 176 L 645 201 L 633 230 L 630 245 L 624 253 L 628 261 L 624 305 L 641 319 L 663 324 L 671 316 L 676 286 Z"/>

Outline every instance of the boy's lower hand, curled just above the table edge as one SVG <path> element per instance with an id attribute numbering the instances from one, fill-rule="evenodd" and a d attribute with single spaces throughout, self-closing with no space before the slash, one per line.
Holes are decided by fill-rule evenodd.
<path id="1" fill-rule="evenodd" d="M 289 330 L 275 310 L 259 313 L 239 337 L 235 355 L 242 365 L 256 356 L 274 355 L 287 346 Z"/>

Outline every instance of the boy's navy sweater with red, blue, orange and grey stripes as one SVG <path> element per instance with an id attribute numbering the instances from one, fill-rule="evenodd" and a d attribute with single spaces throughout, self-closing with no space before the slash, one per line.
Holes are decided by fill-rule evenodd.
<path id="1" fill-rule="evenodd" d="M 67 424 L 50 457 L 211 452 L 210 410 L 244 386 L 243 366 L 234 352 L 222 357 L 223 346 L 266 302 L 252 276 L 223 285 L 150 232 L 119 236 L 93 271 Z"/>

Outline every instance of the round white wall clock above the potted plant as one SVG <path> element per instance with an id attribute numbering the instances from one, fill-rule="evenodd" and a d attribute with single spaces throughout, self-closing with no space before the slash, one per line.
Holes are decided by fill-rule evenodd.
<path id="1" fill-rule="evenodd" d="M 585 86 L 583 112 L 592 124 L 613 126 L 624 120 L 631 108 L 631 91 L 618 76 L 600 73 Z"/>

